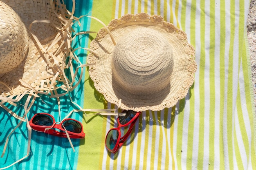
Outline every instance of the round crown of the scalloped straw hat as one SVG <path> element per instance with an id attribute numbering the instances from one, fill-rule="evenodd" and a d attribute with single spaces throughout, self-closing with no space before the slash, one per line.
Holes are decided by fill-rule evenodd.
<path id="1" fill-rule="evenodd" d="M 112 71 L 113 79 L 131 94 L 161 91 L 169 84 L 173 71 L 171 46 L 155 30 L 136 29 L 115 46 Z"/>

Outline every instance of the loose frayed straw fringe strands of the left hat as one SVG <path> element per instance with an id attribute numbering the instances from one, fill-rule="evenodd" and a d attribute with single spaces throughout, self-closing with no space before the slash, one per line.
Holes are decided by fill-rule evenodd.
<path id="1" fill-rule="evenodd" d="M 33 106 L 33 104 L 36 100 L 36 97 L 39 97 L 38 94 L 48 95 L 49 97 L 52 97 L 52 98 L 54 97 L 57 99 L 58 115 L 61 118 L 61 108 L 60 108 L 59 97 L 64 96 L 64 95 L 69 95 L 69 92 L 73 91 L 74 88 L 76 88 L 79 85 L 79 83 L 81 82 L 81 79 L 83 76 L 83 67 L 93 65 L 93 64 L 82 64 L 79 61 L 79 58 L 74 53 L 77 49 L 72 49 L 72 47 L 71 47 L 72 40 L 74 40 L 74 38 L 76 38 L 77 35 L 94 33 L 92 31 L 83 31 L 83 32 L 76 33 L 76 35 L 74 35 L 73 38 L 71 37 L 70 33 L 74 32 L 74 29 L 72 29 L 72 25 L 75 22 L 78 22 L 78 24 L 80 26 L 81 23 L 79 22 L 79 19 L 81 19 L 82 17 L 85 17 L 85 16 L 82 16 L 80 18 L 74 17 L 73 14 L 74 14 L 74 9 L 75 9 L 75 0 L 72 0 L 72 2 L 73 2 L 73 5 L 72 5 L 73 8 L 72 8 L 72 11 L 70 12 L 65 8 L 64 3 L 61 3 L 60 0 L 51 0 L 52 9 L 55 9 L 55 7 L 58 7 L 58 12 L 55 10 L 53 10 L 53 11 L 54 11 L 56 17 L 60 20 L 60 22 L 62 24 L 62 26 L 55 25 L 55 28 L 58 30 L 58 32 L 55 35 L 52 35 L 40 42 L 40 40 L 36 37 L 36 35 L 31 30 L 31 27 L 33 24 L 35 24 L 35 23 L 51 23 L 50 20 L 35 20 L 29 26 L 29 31 L 31 32 L 31 35 L 32 35 L 33 39 L 35 40 L 36 45 L 39 47 L 38 53 L 41 53 L 41 56 L 44 57 L 45 62 L 47 62 L 47 66 L 50 69 L 52 69 L 52 71 L 54 71 L 55 75 L 53 77 L 52 76 L 44 77 L 42 79 L 43 81 L 41 82 L 40 87 L 38 89 L 32 87 L 31 85 L 29 85 L 29 83 L 20 79 L 19 80 L 20 84 L 25 86 L 27 88 L 27 90 L 23 91 L 23 93 L 20 93 L 18 95 L 8 95 L 8 94 L 0 95 L 0 106 L 2 108 L 4 108 L 13 117 L 20 120 L 18 125 L 7 136 L 7 139 L 6 139 L 5 145 L 4 145 L 4 150 L 2 152 L 1 157 L 4 156 L 5 150 L 7 148 L 8 142 L 9 142 L 9 137 L 22 124 L 22 122 L 26 122 L 27 128 L 28 128 L 27 155 L 25 155 L 24 157 L 22 157 L 21 159 L 12 163 L 11 165 L 9 165 L 7 167 L 0 168 L 0 170 L 9 168 L 29 156 L 30 144 L 31 144 L 31 127 L 29 125 L 27 113 L 29 112 L 30 108 Z M 87 16 L 87 17 L 90 17 L 90 16 Z M 94 17 L 90 17 L 90 18 L 94 18 Z M 96 19 L 101 24 L 103 24 L 103 26 L 107 29 L 107 26 L 103 22 L 101 22 L 97 18 L 94 18 L 94 19 Z M 110 33 L 110 31 L 109 31 L 109 33 Z M 115 40 L 112 39 L 112 41 L 115 44 Z M 45 44 L 45 42 L 49 42 L 49 43 L 46 45 L 43 45 L 43 44 Z M 54 46 L 58 46 L 58 49 L 56 51 L 52 51 L 52 47 L 54 47 Z M 63 56 L 60 56 L 59 54 L 61 52 L 63 52 L 62 51 L 63 49 L 65 50 L 65 53 Z M 87 48 L 81 48 L 81 49 L 85 49 L 91 53 L 94 52 L 93 50 L 87 49 Z M 69 57 L 69 59 L 68 59 L 68 61 L 66 61 L 68 57 Z M 75 60 L 76 62 L 79 62 L 79 65 L 80 65 L 76 68 L 75 71 L 74 71 L 74 67 L 72 65 L 73 60 Z M 67 62 L 67 64 L 65 64 L 66 62 Z M 65 71 L 64 71 L 65 69 L 69 69 L 72 81 L 70 81 L 67 78 L 67 75 L 65 74 Z M 79 71 L 79 69 L 80 69 L 80 71 Z M 80 77 L 79 77 L 79 80 L 75 83 L 75 78 L 77 76 L 77 73 L 80 73 Z M 62 82 L 63 84 L 61 86 L 56 86 L 56 82 Z M 4 83 L 0 82 L 0 84 L 4 84 Z M 4 84 L 4 86 L 7 86 L 7 85 Z M 7 86 L 7 88 L 9 88 L 9 87 Z M 59 88 L 64 90 L 65 93 L 58 94 L 57 90 Z M 9 91 L 10 91 L 10 93 L 12 93 L 13 89 L 9 88 Z M 12 110 L 10 110 L 9 108 L 7 108 L 4 105 L 4 103 L 9 103 L 13 106 L 17 106 L 17 103 L 25 95 L 28 95 L 28 97 L 27 97 L 27 100 L 24 105 L 25 114 L 22 117 L 20 117 L 19 115 L 17 115 L 16 113 L 14 113 Z M 70 99 L 71 99 L 71 97 L 70 97 Z M 71 99 L 71 102 L 75 106 L 77 106 L 79 109 L 72 110 L 65 118 L 69 117 L 73 112 L 85 113 L 86 111 L 96 112 L 91 115 L 95 115 L 95 114 L 97 114 L 97 115 L 124 115 L 125 114 L 125 113 L 113 113 L 113 111 L 116 111 L 117 109 L 83 109 L 78 104 L 73 102 L 72 99 Z M 121 99 L 119 101 L 119 105 L 121 105 Z M 87 115 L 85 113 L 85 116 L 90 116 L 90 115 Z M 65 129 L 65 127 L 64 127 L 64 129 Z M 72 147 L 73 151 L 75 151 L 72 141 L 70 140 L 70 137 L 69 137 L 66 129 L 65 129 L 65 132 L 67 134 L 67 139 L 70 142 L 70 146 Z"/>

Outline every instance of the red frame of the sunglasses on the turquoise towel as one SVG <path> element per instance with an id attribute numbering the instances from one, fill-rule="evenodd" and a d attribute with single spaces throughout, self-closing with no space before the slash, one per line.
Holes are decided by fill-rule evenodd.
<path id="1" fill-rule="evenodd" d="M 36 115 L 42 115 L 42 114 L 43 115 L 48 115 L 49 117 L 52 117 L 53 124 L 51 126 L 40 126 L 40 125 L 35 125 L 35 124 L 32 123 L 32 120 L 34 119 L 34 117 L 36 117 Z M 83 125 L 81 124 L 80 121 L 77 121 L 76 119 L 67 118 L 67 119 L 64 119 L 63 121 L 61 121 L 60 124 L 56 124 L 56 121 L 55 121 L 55 119 L 52 115 L 50 115 L 48 113 L 37 113 L 31 118 L 31 120 L 29 121 L 29 125 L 31 126 L 31 128 L 33 130 L 36 130 L 36 131 L 39 131 L 39 132 L 44 132 L 44 133 L 47 133 L 49 135 L 54 135 L 54 136 L 58 136 L 58 137 L 67 137 L 67 134 L 66 134 L 64 128 L 62 128 L 62 123 L 64 121 L 67 121 L 67 120 L 76 121 L 81 125 L 81 132 L 80 133 L 70 132 L 70 131 L 67 130 L 69 137 L 74 138 L 74 139 L 84 138 L 85 133 L 83 132 Z M 46 128 L 50 128 L 50 129 L 46 130 Z M 55 129 L 59 129 L 59 130 L 61 130 L 61 132 L 59 132 Z"/>

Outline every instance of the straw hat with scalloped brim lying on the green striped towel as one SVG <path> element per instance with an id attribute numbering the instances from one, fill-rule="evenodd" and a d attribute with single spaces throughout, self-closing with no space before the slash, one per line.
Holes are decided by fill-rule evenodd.
<path id="1" fill-rule="evenodd" d="M 109 29 L 109 31 L 108 31 Z M 186 33 L 159 15 L 126 14 L 101 29 L 87 62 L 95 88 L 122 109 L 162 110 L 184 98 L 197 69 Z"/>

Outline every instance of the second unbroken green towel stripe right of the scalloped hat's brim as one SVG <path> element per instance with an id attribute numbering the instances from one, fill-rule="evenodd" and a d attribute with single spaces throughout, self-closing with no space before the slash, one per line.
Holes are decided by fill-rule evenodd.
<path id="1" fill-rule="evenodd" d="M 215 160 L 215 1 L 210 2 L 210 68 L 209 68 L 209 79 L 210 79 L 210 109 L 209 109 L 209 169 L 214 168 Z"/>

